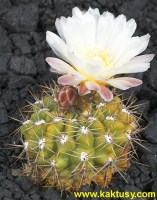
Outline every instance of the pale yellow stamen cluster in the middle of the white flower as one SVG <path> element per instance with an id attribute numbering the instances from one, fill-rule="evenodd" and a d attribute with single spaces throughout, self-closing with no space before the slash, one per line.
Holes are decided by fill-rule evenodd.
<path id="1" fill-rule="evenodd" d="M 100 46 L 87 47 L 82 51 L 84 58 L 102 60 L 105 63 L 105 68 L 112 68 L 112 56 L 108 49 L 104 49 Z"/>

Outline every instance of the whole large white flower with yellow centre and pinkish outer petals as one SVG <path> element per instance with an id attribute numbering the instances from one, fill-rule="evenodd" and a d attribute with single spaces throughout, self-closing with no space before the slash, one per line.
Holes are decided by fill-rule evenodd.
<path id="1" fill-rule="evenodd" d="M 78 85 L 81 96 L 95 90 L 110 101 L 113 94 L 106 86 L 126 90 L 142 83 L 130 77 L 114 78 L 116 74 L 144 72 L 153 59 L 153 54 L 137 56 L 146 49 L 150 35 L 132 37 L 134 19 L 115 18 L 109 12 L 100 15 L 92 8 L 81 12 L 75 7 L 72 17 L 61 17 L 55 25 L 62 39 L 47 31 L 46 40 L 62 60 L 49 57 L 46 61 L 51 72 L 62 74 L 59 84 Z"/>

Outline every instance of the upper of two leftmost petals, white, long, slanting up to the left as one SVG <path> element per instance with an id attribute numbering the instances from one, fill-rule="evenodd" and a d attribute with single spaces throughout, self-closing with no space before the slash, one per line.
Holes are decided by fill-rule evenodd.
<path id="1" fill-rule="evenodd" d="M 46 41 L 48 42 L 48 44 L 50 45 L 50 47 L 52 48 L 52 50 L 58 57 L 65 60 L 66 62 L 69 61 L 67 45 L 60 37 L 58 37 L 56 34 L 50 31 L 47 31 Z"/>

